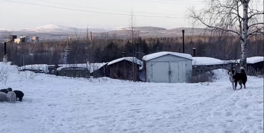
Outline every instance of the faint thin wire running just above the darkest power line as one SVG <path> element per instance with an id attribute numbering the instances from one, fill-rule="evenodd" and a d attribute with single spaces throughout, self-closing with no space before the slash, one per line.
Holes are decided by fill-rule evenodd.
<path id="1" fill-rule="evenodd" d="M 64 3 L 50 2 L 50 1 L 44 1 L 44 0 L 34 0 L 34 1 L 43 1 L 43 2 L 55 3 L 55 4 L 61 4 L 61 5 L 67 5 L 67 6 L 84 7 L 84 8 L 101 9 L 101 10 L 110 10 L 110 11 L 118 11 L 118 12 L 131 12 L 131 11 L 125 11 L 125 10 L 103 9 L 103 8 L 96 8 L 96 7 L 86 7 L 86 6 L 79 6 L 79 5 L 72 5 L 72 4 L 64 4 Z M 162 13 L 151 13 L 151 12 L 134 12 L 134 13 L 159 14 L 159 15 L 176 15 L 176 14 L 162 14 Z M 179 14 L 177 14 L 177 15 L 179 15 Z"/>

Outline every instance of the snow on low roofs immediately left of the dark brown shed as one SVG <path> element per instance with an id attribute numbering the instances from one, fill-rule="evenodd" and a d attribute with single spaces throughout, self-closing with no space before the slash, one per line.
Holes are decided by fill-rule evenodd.
<path id="1" fill-rule="evenodd" d="M 60 71 L 63 68 L 70 68 L 70 67 L 80 67 L 80 68 L 87 68 L 88 70 L 90 70 L 90 72 L 94 72 L 98 69 L 100 69 L 101 67 L 103 67 L 105 64 L 107 64 L 107 62 L 103 62 L 103 63 L 90 63 L 90 64 L 61 64 L 62 67 L 57 68 L 57 71 Z M 91 66 L 90 66 L 91 65 Z M 58 65 L 60 66 L 60 65 Z"/>

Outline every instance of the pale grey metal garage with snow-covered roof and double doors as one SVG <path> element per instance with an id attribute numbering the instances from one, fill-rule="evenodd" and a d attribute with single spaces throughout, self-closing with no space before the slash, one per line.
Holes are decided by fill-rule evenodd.
<path id="1" fill-rule="evenodd" d="M 142 59 L 146 82 L 182 83 L 192 76 L 190 54 L 162 51 Z"/>

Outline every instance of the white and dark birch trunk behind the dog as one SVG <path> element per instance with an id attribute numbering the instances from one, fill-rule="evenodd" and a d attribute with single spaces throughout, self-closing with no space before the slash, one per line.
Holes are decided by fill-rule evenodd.
<path id="1" fill-rule="evenodd" d="M 248 3 L 247 0 L 243 1 L 243 20 L 242 20 L 242 35 L 240 35 L 240 43 L 241 43 L 241 56 L 240 56 L 240 66 L 246 68 L 247 67 L 247 31 L 248 31 Z"/>

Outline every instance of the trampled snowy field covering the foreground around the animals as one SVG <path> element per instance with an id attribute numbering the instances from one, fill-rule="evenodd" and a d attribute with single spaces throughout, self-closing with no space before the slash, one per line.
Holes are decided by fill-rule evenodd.
<path id="1" fill-rule="evenodd" d="M 225 76 L 208 86 L 91 81 L 10 66 L 5 78 L 1 89 L 25 96 L 0 103 L 3 133 L 263 133 L 263 78 L 236 91 Z"/>

